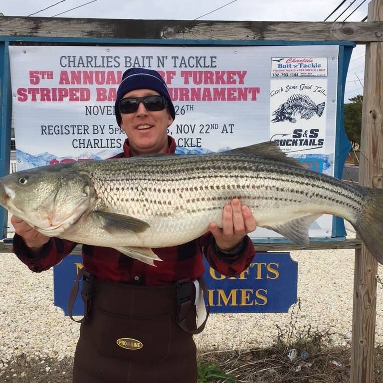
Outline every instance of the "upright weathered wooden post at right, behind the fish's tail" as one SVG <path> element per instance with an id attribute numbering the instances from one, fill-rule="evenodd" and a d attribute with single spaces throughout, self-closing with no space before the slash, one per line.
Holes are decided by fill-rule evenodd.
<path id="1" fill-rule="evenodd" d="M 373 20 L 383 20 L 383 0 L 370 2 L 368 21 Z M 383 43 L 370 42 L 366 44 L 359 183 L 373 188 L 382 188 L 382 89 Z M 376 260 L 363 244 L 355 252 L 351 383 L 374 381 L 377 269 Z"/>

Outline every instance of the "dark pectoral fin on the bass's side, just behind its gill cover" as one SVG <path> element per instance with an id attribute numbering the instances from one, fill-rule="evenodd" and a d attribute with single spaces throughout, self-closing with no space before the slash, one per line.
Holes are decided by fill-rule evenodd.
<path id="1" fill-rule="evenodd" d="M 125 233 L 127 231 L 141 233 L 150 227 L 149 223 L 129 215 L 109 213 L 107 211 L 93 211 L 91 215 L 99 222 L 99 226 L 110 234 Z"/>

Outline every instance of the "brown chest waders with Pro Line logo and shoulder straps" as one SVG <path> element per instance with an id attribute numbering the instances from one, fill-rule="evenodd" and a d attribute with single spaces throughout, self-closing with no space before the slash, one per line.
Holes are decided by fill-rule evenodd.
<path id="1" fill-rule="evenodd" d="M 103 282 L 81 269 L 69 297 L 69 316 L 82 280 L 84 317 L 73 383 L 196 383 L 195 288 Z M 198 279 L 203 291 L 205 284 Z M 205 296 L 207 296 L 205 292 Z"/>

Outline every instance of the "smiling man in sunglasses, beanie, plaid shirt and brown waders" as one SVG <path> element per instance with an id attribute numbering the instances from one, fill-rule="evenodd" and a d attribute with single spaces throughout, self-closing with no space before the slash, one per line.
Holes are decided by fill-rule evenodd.
<path id="1" fill-rule="evenodd" d="M 116 158 L 174 153 L 167 135 L 175 108 L 158 72 L 128 69 L 117 91 L 118 125 L 127 135 Z M 76 245 L 46 237 L 13 216 L 13 249 L 31 270 L 57 264 Z M 83 245 L 86 320 L 76 347 L 74 383 L 196 383 L 192 334 L 202 331 L 200 287 L 202 256 L 224 275 L 237 275 L 254 256 L 247 233 L 256 221 L 247 206 L 233 199 L 222 212 L 222 228 L 180 246 L 154 249 L 156 267 L 115 249 Z M 89 282 L 91 281 L 91 282 Z M 202 300 L 203 302 L 203 300 Z M 204 305 L 202 305 L 204 307 Z M 88 310 L 89 309 L 89 310 Z M 202 318 L 201 318 L 202 316 Z"/>

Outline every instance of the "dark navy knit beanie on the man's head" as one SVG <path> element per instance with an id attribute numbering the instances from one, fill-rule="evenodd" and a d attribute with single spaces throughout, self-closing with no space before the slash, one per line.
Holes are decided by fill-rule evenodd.
<path id="1" fill-rule="evenodd" d="M 119 126 L 121 125 L 121 114 L 118 104 L 126 93 L 135 89 L 152 89 L 158 92 L 161 96 L 164 96 L 168 102 L 170 115 L 173 117 L 173 120 L 176 118 L 176 111 L 174 110 L 168 87 L 160 74 L 151 69 L 130 68 L 122 75 L 121 84 L 117 90 L 115 114 Z"/>

